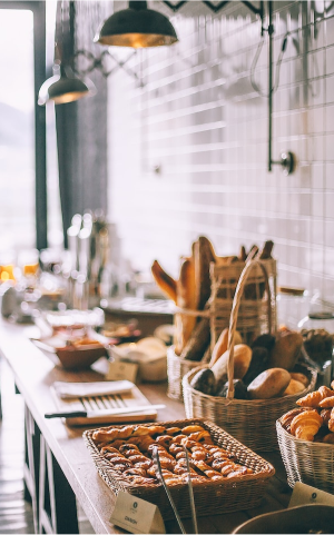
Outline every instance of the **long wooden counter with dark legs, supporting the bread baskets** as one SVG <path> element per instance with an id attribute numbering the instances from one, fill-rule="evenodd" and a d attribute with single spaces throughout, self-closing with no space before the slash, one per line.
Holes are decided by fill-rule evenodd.
<path id="1" fill-rule="evenodd" d="M 73 526 L 76 523 L 76 514 L 73 514 L 72 517 L 70 515 L 70 508 L 75 506 L 75 499 L 73 496 L 71 496 L 73 492 L 97 534 L 125 533 L 109 522 L 115 505 L 115 496 L 97 474 L 81 437 L 84 428 L 70 428 L 63 425 L 60 419 L 47 420 L 43 417 L 45 413 L 56 409 L 49 390 L 55 380 L 101 380 L 101 374 L 107 361 L 101 359 L 94 366 L 95 369 L 85 373 L 75 374 L 66 371 L 58 365 L 55 365 L 55 363 L 57 363 L 55 358 L 57 359 L 57 357 L 48 357 L 24 336 L 23 327 L 11 325 L 3 320 L 0 323 L 0 350 L 12 369 L 18 390 L 24 398 L 27 428 L 29 426 L 30 428 L 31 426 L 33 427 L 33 425 L 36 426 L 36 433 L 32 430 L 35 445 L 39 439 L 39 430 L 42 438 L 41 453 L 38 450 L 38 446 L 35 453 L 31 450 L 31 444 L 30 449 L 29 444 L 27 447 L 27 465 L 29 465 L 29 468 L 27 467 L 26 470 L 27 486 L 32 494 L 33 488 L 31 489 L 31 485 L 33 486 L 35 483 L 38 487 L 37 495 L 32 496 L 36 509 L 36 529 L 38 529 L 38 523 L 48 523 L 49 521 L 46 516 L 49 516 L 52 529 L 49 532 L 50 534 L 75 535 L 76 527 Z M 171 420 L 185 417 L 183 404 L 169 399 L 166 396 L 166 384 L 140 385 L 140 389 L 151 403 L 166 404 L 166 408 L 158 413 L 158 420 Z M 39 456 L 41 457 L 41 469 L 37 466 Z M 286 475 L 279 453 L 265 454 L 262 456 L 275 466 L 276 475 L 268 483 L 267 492 L 261 507 L 252 511 L 200 517 L 198 518 L 200 534 L 227 535 L 236 526 L 252 516 L 282 509 L 287 506 L 291 489 L 286 484 Z M 51 469 L 52 462 L 53 474 Z M 59 470 L 58 466 L 61 470 Z M 60 496 L 56 496 L 58 499 L 58 502 L 57 499 L 53 501 L 56 505 L 55 503 L 52 505 L 51 499 L 49 515 L 45 512 L 45 509 L 48 509 L 45 505 L 49 497 L 47 499 L 45 497 L 46 488 L 42 482 L 45 472 L 48 469 L 51 470 L 48 478 L 51 479 L 51 483 L 53 478 L 55 487 L 57 488 L 57 486 L 61 485 L 63 489 Z M 31 474 L 35 482 L 30 480 Z M 65 475 L 65 480 L 62 474 Z M 68 488 L 66 488 L 66 480 L 69 483 Z M 52 485 L 50 485 L 50 495 L 52 498 L 51 487 Z M 42 488 L 43 492 L 39 493 L 39 488 Z M 39 511 L 41 512 L 40 514 L 38 514 Z M 67 525 L 68 527 L 63 527 Z M 189 529 L 189 533 L 191 533 L 191 522 L 185 521 L 185 526 Z M 166 523 L 166 528 L 168 534 L 180 533 L 176 522 Z M 46 533 L 48 532 L 46 531 Z"/>

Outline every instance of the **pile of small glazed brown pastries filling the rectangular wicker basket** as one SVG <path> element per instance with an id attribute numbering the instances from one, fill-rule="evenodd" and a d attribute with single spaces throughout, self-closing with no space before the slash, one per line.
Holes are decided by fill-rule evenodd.
<path id="1" fill-rule="evenodd" d="M 143 434 L 144 429 L 145 433 L 149 432 L 156 436 L 156 439 L 148 434 Z M 196 485 L 208 480 L 219 482 L 226 477 L 236 478 L 253 472 L 238 464 L 233 453 L 215 444 L 207 444 L 206 440 L 212 442 L 212 437 L 202 425 L 194 424 L 174 429 L 180 434 L 168 435 L 168 428 L 159 425 L 110 427 L 97 429 L 95 433 L 104 430 L 108 437 L 125 436 L 131 433 L 127 442 L 116 438 L 109 444 L 99 443 L 98 448 L 112 470 L 119 474 L 124 478 L 122 480 L 132 485 L 159 483 L 159 475 L 153 460 L 155 450 L 158 452 L 166 484 L 174 486 L 186 483 L 189 475 L 184 446 L 188 448 L 190 478 Z M 139 433 L 140 436 L 135 436 L 135 433 Z"/>

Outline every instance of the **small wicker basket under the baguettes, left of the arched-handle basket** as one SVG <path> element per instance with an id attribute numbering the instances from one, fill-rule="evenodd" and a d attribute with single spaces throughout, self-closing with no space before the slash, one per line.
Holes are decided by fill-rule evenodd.
<path id="1" fill-rule="evenodd" d="M 167 396 L 183 402 L 183 377 L 194 368 L 198 367 L 198 363 L 186 360 L 176 355 L 174 346 L 167 349 L 167 376 L 168 390 Z"/>

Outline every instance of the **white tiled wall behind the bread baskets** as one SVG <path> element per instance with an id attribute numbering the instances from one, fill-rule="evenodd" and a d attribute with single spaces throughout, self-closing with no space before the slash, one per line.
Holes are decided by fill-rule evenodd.
<path id="1" fill-rule="evenodd" d="M 198 0 L 177 14 L 150 3 L 170 17 L 179 43 L 143 50 L 129 62 L 143 88 L 120 70 L 109 79 L 109 216 L 135 266 L 148 269 L 157 258 L 176 275 L 178 257 L 198 235 L 220 255 L 271 238 L 279 284 L 334 296 L 334 8 L 326 12 L 327 4 L 274 2 L 275 65 L 291 32 L 273 115 L 273 158 L 283 150 L 298 158 L 285 176 L 279 166 L 267 171 L 267 98 L 250 83 L 259 20 L 237 0 L 215 16 Z M 265 38 L 254 72 L 264 93 L 267 46 Z"/>

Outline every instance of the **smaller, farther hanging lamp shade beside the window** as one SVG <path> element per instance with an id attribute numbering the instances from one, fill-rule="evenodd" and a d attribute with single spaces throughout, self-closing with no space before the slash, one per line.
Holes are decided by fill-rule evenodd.
<path id="1" fill-rule="evenodd" d="M 52 100 L 56 105 L 63 105 L 95 93 L 96 87 L 91 80 L 82 81 L 75 77 L 69 67 L 57 65 L 53 76 L 46 80 L 39 90 L 38 103 L 43 106 Z"/>

